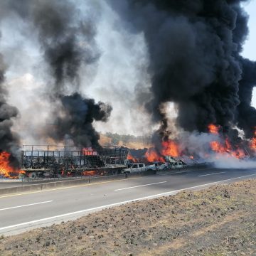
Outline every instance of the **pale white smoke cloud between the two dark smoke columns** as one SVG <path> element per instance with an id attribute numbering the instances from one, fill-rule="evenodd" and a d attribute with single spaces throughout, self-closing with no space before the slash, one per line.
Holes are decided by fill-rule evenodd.
<path id="1" fill-rule="evenodd" d="M 101 57 L 94 80 L 82 77 L 82 90 L 95 100 L 110 102 L 113 110 L 107 123 L 97 122 L 95 127 L 101 132 L 119 134 L 150 133 L 155 127 L 142 107 L 150 97 L 144 35 L 124 30 L 119 16 L 105 2 L 101 4 L 102 19 L 96 36 Z"/>

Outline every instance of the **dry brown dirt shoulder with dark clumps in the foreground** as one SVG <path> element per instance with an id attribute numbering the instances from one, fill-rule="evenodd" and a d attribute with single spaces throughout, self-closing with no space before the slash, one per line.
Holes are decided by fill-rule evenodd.
<path id="1" fill-rule="evenodd" d="M 256 255 L 256 180 L 2 237 L 0 255 Z"/>

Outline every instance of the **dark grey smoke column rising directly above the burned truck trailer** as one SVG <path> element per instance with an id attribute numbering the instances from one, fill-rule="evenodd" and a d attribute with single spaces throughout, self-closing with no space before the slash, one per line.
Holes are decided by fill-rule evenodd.
<path id="1" fill-rule="evenodd" d="M 80 73 L 100 58 L 95 43 L 95 18 L 73 1 L 10 1 L 9 8 L 31 23 L 38 36 L 51 79 L 46 90 L 53 117 L 44 134 L 55 142 L 69 139 L 78 146 L 99 146 L 92 122 L 107 121 L 112 108 L 79 94 Z M 83 74 L 86 75 L 86 74 Z"/>

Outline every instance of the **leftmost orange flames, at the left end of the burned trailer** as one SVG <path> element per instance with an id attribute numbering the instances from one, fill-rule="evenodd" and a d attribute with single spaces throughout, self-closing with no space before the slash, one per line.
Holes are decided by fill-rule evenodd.
<path id="1" fill-rule="evenodd" d="M 0 153 L 0 176 L 5 178 L 17 178 L 18 174 L 23 173 L 23 171 L 14 169 L 10 166 L 10 155 L 6 151 Z"/>

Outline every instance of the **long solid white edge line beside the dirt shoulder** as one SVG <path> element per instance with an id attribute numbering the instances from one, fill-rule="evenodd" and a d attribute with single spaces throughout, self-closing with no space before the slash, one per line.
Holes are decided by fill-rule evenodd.
<path id="1" fill-rule="evenodd" d="M 64 214 L 60 214 L 60 215 L 56 215 L 56 216 L 52 216 L 52 217 L 48 217 L 48 218 L 42 218 L 42 219 L 39 219 L 39 220 L 28 221 L 26 223 L 19 223 L 19 224 L 16 224 L 16 225 L 9 225 L 9 226 L 0 228 L 0 231 L 1 230 L 6 230 L 8 228 L 20 227 L 22 225 L 35 224 L 35 223 L 39 223 L 39 222 L 42 222 L 42 221 L 45 221 L 45 220 L 53 220 L 53 219 L 57 219 L 57 218 L 63 218 L 65 216 L 75 215 L 75 214 L 78 214 L 78 213 L 86 213 L 86 212 L 91 211 L 91 210 L 100 210 L 100 209 L 109 208 L 109 207 L 112 207 L 112 206 L 119 206 L 119 205 L 122 205 L 124 203 L 131 203 L 131 202 L 134 202 L 134 201 L 140 201 L 140 200 L 149 199 L 149 198 L 157 198 L 159 196 L 169 196 L 171 194 L 176 194 L 176 193 L 178 193 L 180 191 L 184 191 L 184 190 L 190 190 L 190 189 L 193 189 L 193 188 L 202 188 L 204 186 L 210 186 L 210 185 L 214 185 L 214 184 L 217 184 L 217 183 L 220 183 L 220 182 L 233 181 L 233 180 L 236 180 L 238 178 L 245 178 L 245 177 L 250 177 L 250 176 L 256 176 L 256 174 L 250 174 L 250 175 L 240 176 L 240 177 L 236 177 L 236 178 L 228 178 L 228 179 L 223 180 L 223 181 L 215 181 L 215 182 L 206 183 L 206 184 L 193 186 L 193 187 L 189 187 L 189 188 L 178 189 L 176 191 L 169 191 L 169 192 L 159 193 L 159 194 L 152 195 L 152 196 L 145 196 L 143 198 L 131 199 L 131 200 L 122 201 L 122 202 L 119 202 L 119 203 L 111 203 L 111 204 L 106 205 L 106 206 L 98 206 L 98 207 L 94 207 L 94 208 L 90 208 L 90 209 L 78 210 L 78 211 L 75 211 L 73 213 L 64 213 Z"/>

